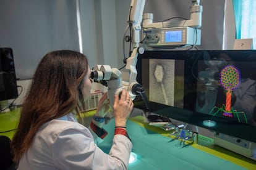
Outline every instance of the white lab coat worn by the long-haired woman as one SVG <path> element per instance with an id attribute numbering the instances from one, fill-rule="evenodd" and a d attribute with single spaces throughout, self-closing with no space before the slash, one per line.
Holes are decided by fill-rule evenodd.
<path id="1" fill-rule="evenodd" d="M 69 114 L 39 129 L 18 169 L 127 169 L 131 150 L 130 140 L 117 134 L 109 155 L 104 153 L 95 144 L 92 132 Z"/>

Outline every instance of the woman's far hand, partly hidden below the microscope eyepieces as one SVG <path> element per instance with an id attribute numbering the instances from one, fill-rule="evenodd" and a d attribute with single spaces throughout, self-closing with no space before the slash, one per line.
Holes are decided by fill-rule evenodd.
<path id="1" fill-rule="evenodd" d="M 108 100 L 108 93 L 102 95 L 101 99 L 99 100 L 98 107 L 95 113 L 95 116 L 99 118 L 104 118 L 106 114 L 108 114 L 109 110 L 111 109 Z"/>

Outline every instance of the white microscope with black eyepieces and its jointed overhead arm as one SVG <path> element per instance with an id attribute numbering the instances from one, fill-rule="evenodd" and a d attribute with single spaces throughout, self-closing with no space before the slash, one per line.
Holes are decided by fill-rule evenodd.
<path id="1" fill-rule="evenodd" d="M 131 26 L 132 52 L 126 61 L 126 69 L 129 71 L 129 80 L 122 80 L 121 72 L 116 68 L 109 67 L 108 65 L 96 65 L 95 68 L 93 68 L 91 78 L 101 84 L 103 84 L 101 80 L 105 81 L 105 84 L 108 86 L 108 95 L 111 104 L 114 103 L 114 94 L 120 94 L 122 88 L 126 88 L 132 100 L 134 100 L 137 95 L 141 95 L 146 107 L 149 108 L 145 91 L 136 80 L 137 57 L 138 54 L 143 54 L 144 52 L 144 49 L 139 47 L 144 6 L 145 0 L 132 0 L 130 3 L 130 12 L 127 22 L 129 23 L 129 26 Z"/>

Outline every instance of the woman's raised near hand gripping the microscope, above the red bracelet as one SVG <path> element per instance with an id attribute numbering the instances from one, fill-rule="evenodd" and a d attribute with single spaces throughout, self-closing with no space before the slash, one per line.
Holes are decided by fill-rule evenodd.
<path id="1" fill-rule="evenodd" d="M 126 126 L 126 121 L 134 108 L 134 103 L 130 99 L 129 93 L 126 89 L 122 89 L 121 98 L 118 95 L 114 96 L 114 118 L 116 126 Z"/>

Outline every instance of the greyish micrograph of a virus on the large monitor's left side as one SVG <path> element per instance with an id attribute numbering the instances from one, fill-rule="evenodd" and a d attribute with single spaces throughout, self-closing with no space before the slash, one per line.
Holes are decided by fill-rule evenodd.
<path id="1" fill-rule="evenodd" d="M 184 61 L 142 59 L 143 68 L 151 76 L 142 77 L 149 100 L 164 105 L 184 107 Z"/>

